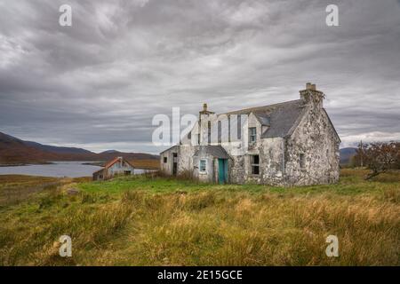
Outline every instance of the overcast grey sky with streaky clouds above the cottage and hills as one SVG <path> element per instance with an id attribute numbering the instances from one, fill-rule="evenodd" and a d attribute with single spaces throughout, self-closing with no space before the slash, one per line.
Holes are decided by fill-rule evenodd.
<path id="1" fill-rule="evenodd" d="M 400 140 L 400 0 L 0 0 L 0 131 L 18 138 L 158 153 L 156 114 L 299 99 L 307 82 L 342 147 Z"/>

